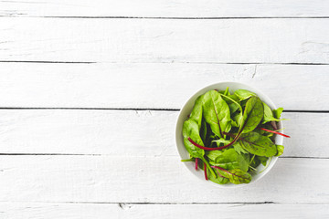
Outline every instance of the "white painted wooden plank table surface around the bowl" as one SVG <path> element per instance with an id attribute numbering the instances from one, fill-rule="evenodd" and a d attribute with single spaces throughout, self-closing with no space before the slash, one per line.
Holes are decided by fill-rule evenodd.
<path id="1" fill-rule="evenodd" d="M 329 1 L 0 1 L 0 218 L 329 218 Z M 282 106 L 260 182 L 203 187 L 175 151 L 197 89 Z"/>

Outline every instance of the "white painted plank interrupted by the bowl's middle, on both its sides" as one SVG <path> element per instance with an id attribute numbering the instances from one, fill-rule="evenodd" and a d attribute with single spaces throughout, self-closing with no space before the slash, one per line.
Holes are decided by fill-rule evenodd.
<path id="1" fill-rule="evenodd" d="M 0 110 L 0 153 L 177 156 L 177 116 L 178 111 Z M 282 117 L 290 119 L 284 126 L 292 136 L 284 140 L 284 156 L 329 157 L 328 113 Z"/>

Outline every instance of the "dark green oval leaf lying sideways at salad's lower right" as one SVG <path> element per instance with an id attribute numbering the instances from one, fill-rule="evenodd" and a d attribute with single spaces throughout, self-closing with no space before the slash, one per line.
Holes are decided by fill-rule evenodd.
<path id="1" fill-rule="evenodd" d="M 245 150 L 258 156 L 271 157 L 277 154 L 277 148 L 271 139 L 254 131 L 242 134 L 239 142 Z"/>

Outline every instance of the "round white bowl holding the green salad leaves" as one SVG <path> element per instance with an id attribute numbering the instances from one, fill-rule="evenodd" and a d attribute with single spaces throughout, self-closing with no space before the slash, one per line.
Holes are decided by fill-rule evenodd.
<path id="1" fill-rule="evenodd" d="M 248 89 L 251 92 L 256 93 L 259 98 L 265 102 L 272 110 L 277 109 L 277 107 L 274 105 L 274 103 L 271 101 L 271 99 L 266 96 L 263 92 L 261 92 L 259 89 L 255 89 L 250 87 L 249 85 L 238 83 L 238 82 L 220 82 L 217 84 L 209 85 L 204 89 L 200 89 L 197 91 L 190 99 L 186 101 L 186 104 L 184 104 L 184 107 L 182 110 L 179 111 L 179 116 L 176 121 L 176 127 L 175 127 L 175 141 L 178 153 L 181 157 L 181 159 L 189 159 L 189 153 L 186 151 L 186 148 L 184 146 L 184 140 L 183 140 L 183 123 L 185 120 L 187 120 L 187 116 L 191 113 L 193 106 L 195 104 L 196 98 L 204 93 L 206 93 L 208 90 L 211 89 L 219 89 L 219 90 L 225 90 L 229 88 L 229 91 L 235 91 L 236 89 Z M 278 128 L 283 129 L 282 122 L 278 122 Z M 281 131 L 283 133 L 283 131 Z M 283 144 L 283 137 L 281 135 L 275 136 L 275 143 L 276 144 Z M 252 174 L 252 180 L 250 183 L 243 183 L 243 184 L 233 184 L 233 183 L 227 183 L 227 184 L 218 184 L 213 183 L 211 181 L 205 180 L 205 175 L 202 170 L 195 170 L 195 162 L 182 162 L 182 165 L 186 165 L 186 168 L 192 172 L 196 178 L 200 179 L 202 182 L 211 184 L 217 187 L 222 188 L 237 188 L 241 186 L 246 186 L 252 183 L 255 183 L 256 181 L 260 180 L 264 175 L 266 175 L 268 172 L 271 171 L 271 168 L 274 166 L 275 162 L 278 160 L 278 157 L 272 157 L 267 162 L 267 167 L 265 168 L 262 164 L 260 164 L 257 167 L 257 171 Z M 265 170 L 264 170 L 265 169 Z"/>

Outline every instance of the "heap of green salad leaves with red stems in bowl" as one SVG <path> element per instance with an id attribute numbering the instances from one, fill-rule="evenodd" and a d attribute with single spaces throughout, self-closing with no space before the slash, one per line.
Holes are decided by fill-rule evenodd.
<path id="1" fill-rule="evenodd" d="M 196 99 L 183 137 L 190 159 L 214 183 L 249 183 L 252 172 L 284 147 L 275 144 L 282 108 L 271 110 L 253 92 L 210 90 Z"/>

